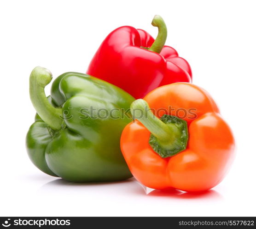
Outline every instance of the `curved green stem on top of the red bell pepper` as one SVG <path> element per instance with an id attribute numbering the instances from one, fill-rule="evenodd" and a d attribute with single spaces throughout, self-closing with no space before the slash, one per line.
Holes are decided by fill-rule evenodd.
<path id="1" fill-rule="evenodd" d="M 160 53 L 161 50 L 163 49 L 164 43 L 167 38 L 167 28 L 163 21 L 163 18 L 160 17 L 159 15 L 155 15 L 151 24 L 152 26 L 155 26 L 158 28 L 158 34 L 154 43 L 151 45 L 151 47 L 148 50 Z"/>

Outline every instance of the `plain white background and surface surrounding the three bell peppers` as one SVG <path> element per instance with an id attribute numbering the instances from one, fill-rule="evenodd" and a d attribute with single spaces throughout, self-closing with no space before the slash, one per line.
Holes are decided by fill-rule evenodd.
<path id="1" fill-rule="evenodd" d="M 253 0 L 1 1 L 0 216 L 255 216 L 255 9 Z M 156 37 L 155 14 L 167 24 L 166 44 L 189 61 L 193 83 L 209 91 L 233 129 L 237 155 L 226 179 L 193 195 L 134 180 L 71 184 L 35 168 L 25 149 L 35 115 L 31 70 L 85 73 L 113 29 L 131 25 Z"/>

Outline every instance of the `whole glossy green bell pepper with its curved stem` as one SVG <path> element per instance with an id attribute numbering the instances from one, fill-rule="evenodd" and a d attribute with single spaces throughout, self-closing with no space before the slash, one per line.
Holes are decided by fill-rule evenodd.
<path id="1" fill-rule="evenodd" d="M 41 171 L 73 182 L 130 178 L 120 136 L 131 117 L 101 113 L 99 118 L 96 113 L 115 109 L 112 114 L 119 117 L 120 108 L 128 109 L 134 98 L 105 81 L 70 72 L 54 80 L 47 100 L 44 87 L 51 79 L 41 67 L 30 75 L 30 97 L 40 115 L 26 137 L 31 161 Z"/>

